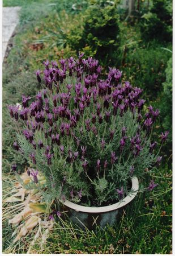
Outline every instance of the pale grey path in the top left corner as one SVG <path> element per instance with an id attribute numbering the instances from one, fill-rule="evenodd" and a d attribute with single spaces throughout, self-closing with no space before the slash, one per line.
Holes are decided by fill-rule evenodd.
<path id="1" fill-rule="evenodd" d="M 5 57 L 8 40 L 18 24 L 20 7 L 3 7 L 2 9 L 2 59 Z"/>

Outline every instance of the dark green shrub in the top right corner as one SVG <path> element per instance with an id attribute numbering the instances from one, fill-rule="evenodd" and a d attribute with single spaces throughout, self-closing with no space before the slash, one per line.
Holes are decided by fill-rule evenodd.
<path id="1" fill-rule="evenodd" d="M 142 36 L 146 40 L 172 41 L 172 1 L 154 0 L 150 12 L 142 16 Z"/>

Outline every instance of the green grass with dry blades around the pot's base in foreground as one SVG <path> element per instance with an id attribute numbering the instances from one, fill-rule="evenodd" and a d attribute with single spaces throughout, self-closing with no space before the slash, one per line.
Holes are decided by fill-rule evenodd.
<path id="1" fill-rule="evenodd" d="M 54 222 L 45 245 L 38 238 L 31 253 L 106 253 L 106 254 L 170 254 L 172 251 L 172 171 L 161 168 L 159 176 L 151 175 L 159 186 L 154 192 L 138 193 L 136 199 L 116 225 L 94 231 L 81 230 L 62 218 Z M 3 188 L 12 187 L 6 179 Z M 17 245 L 10 245 L 13 229 L 3 222 L 3 251 L 5 253 L 27 253 L 28 246 L 36 234 L 34 229 Z M 8 247 L 8 250 L 5 250 Z"/>

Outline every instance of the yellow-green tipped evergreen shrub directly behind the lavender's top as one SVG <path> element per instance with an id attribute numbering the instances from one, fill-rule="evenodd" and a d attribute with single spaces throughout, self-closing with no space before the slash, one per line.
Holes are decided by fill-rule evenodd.
<path id="1" fill-rule="evenodd" d="M 117 3 L 93 1 L 83 13 L 83 28 L 75 26 L 67 35 L 72 49 L 95 56 L 103 65 L 112 65 L 119 47 L 119 15 Z"/>

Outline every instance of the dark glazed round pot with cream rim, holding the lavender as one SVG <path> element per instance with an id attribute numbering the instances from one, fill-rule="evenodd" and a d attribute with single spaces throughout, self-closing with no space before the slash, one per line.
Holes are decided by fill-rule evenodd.
<path id="1" fill-rule="evenodd" d="M 112 226 L 121 216 L 123 209 L 130 204 L 138 192 L 139 182 L 137 177 L 132 177 L 131 183 L 132 192 L 116 204 L 105 207 L 85 207 L 65 200 L 62 210 L 67 212 L 67 215 L 74 224 L 83 229 L 88 228 L 92 230 L 96 225 L 99 225 L 101 228 L 104 228 L 107 224 Z"/>

